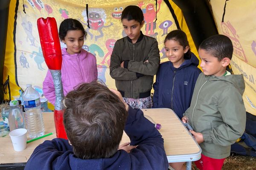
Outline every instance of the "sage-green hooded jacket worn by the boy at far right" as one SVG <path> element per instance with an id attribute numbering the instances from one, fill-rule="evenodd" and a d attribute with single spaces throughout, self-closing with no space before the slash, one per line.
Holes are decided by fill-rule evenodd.
<path id="1" fill-rule="evenodd" d="M 242 75 L 221 77 L 201 73 L 190 107 L 184 113 L 195 132 L 203 134 L 202 154 L 215 159 L 230 155 L 231 144 L 242 136 L 246 111 Z"/>

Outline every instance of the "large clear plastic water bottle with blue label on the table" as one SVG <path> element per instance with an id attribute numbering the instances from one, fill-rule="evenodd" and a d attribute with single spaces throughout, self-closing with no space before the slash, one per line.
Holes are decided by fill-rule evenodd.
<path id="1" fill-rule="evenodd" d="M 39 93 L 32 88 L 31 84 L 26 85 L 26 87 L 26 90 L 22 94 L 25 110 L 25 122 L 29 138 L 33 139 L 44 135 L 44 121 Z"/>

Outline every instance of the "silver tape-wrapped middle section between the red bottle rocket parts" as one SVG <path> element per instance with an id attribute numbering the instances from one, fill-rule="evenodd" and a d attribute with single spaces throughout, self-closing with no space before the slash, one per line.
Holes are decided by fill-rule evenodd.
<path id="1" fill-rule="evenodd" d="M 50 72 L 52 74 L 53 84 L 55 88 L 55 110 L 60 111 L 64 108 L 62 104 L 62 100 L 64 99 L 64 93 L 61 82 L 61 70 L 50 70 Z"/>

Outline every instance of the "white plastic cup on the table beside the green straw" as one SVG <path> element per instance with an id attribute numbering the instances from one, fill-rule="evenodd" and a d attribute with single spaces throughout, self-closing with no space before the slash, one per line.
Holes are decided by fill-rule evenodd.
<path id="1" fill-rule="evenodd" d="M 12 145 L 15 151 L 22 151 L 26 148 L 28 130 L 19 128 L 12 130 L 9 135 L 12 139 Z"/>

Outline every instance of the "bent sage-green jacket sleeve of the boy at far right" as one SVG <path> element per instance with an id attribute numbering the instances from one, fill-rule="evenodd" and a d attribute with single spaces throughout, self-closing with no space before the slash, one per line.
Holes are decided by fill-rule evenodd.
<path id="1" fill-rule="evenodd" d="M 245 130 L 246 111 L 241 94 L 236 88 L 226 89 L 218 101 L 223 124 L 203 132 L 205 142 L 227 146 L 236 142 Z"/>

